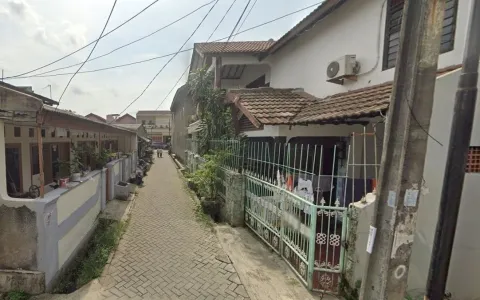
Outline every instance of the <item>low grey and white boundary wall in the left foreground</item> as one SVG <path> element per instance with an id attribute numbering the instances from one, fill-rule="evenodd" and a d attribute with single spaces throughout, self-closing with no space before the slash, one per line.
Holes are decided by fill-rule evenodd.
<path id="1" fill-rule="evenodd" d="M 18 278 L 14 286 L 25 292 L 51 290 L 95 229 L 106 203 L 106 180 L 103 169 L 90 172 L 69 189 L 53 190 L 43 199 L 2 195 L 0 244 L 11 246 L 0 250 L 0 277 Z M 31 281 L 19 277 L 18 269 L 25 271 L 25 278 L 29 277 L 28 271 L 44 274 L 44 282 L 36 281 L 42 286 L 32 286 Z M 0 292 L 7 288 L 0 285 Z"/>

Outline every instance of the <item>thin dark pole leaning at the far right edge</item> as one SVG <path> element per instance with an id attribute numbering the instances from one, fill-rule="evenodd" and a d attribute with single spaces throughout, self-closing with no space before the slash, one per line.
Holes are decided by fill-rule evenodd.
<path id="1" fill-rule="evenodd" d="M 480 59 L 480 0 L 474 0 L 472 5 L 425 296 L 430 300 L 443 299 L 445 294 L 475 116 Z"/>

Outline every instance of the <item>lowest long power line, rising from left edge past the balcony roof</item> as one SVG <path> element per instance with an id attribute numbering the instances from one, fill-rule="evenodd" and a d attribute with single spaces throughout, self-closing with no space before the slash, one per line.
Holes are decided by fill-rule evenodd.
<path id="1" fill-rule="evenodd" d="M 267 21 L 267 22 L 264 22 L 264 23 L 255 25 L 255 26 L 250 27 L 250 28 L 247 28 L 247 29 L 245 29 L 245 30 L 242 30 L 242 31 L 240 31 L 240 32 L 235 33 L 233 36 L 237 36 L 237 35 L 243 34 L 243 33 L 245 33 L 245 32 L 248 32 L 248 31 L 257 29 L 257 28 L 259 28 L 259 27 L 263 27 L 263 26 L 266 26 L 266 25 L 268 25 L 268 24 L 274 23 L 274 22 L 276 22 L 276 21 L 279 21 L 279 20 L 284 19 L 284 18 L 286 18 L 286 17 L 289 17 L 289 16 L 291 16 L 291 15 L 294 15 L 294 14 L 297 14 L 297 13 L 302 12 L 302 11 L 304 11 L 304 10 L 307 10 L 307 9 L 312 8 L 312 7 L 318 6 L 320 3 L 321 3 L 321 2 L 316 3 L 316 4 L 309 5 L 309 6 L 307 6 L 307 7 L 304 7 L 304 8 L 302 8 L 302 9 L 299 9 L 299 10 L 293 11 L 293 12 L 291 12 L 291 13 L 285 14 L 285 15 L 283 15 L 283 16 L 277 17 L 277 18 L 272 19 L 272 20 L 270 20 L 270 21 Z M 212 42 L 220 42 L 220 41 L 226 40 L 227 38 L 228 38 L 228 37 L 219 38 L 219 39 L 213 40 Z M 188 52 L 188 51 L 190 51 L 190 50 L 193 50 L 193 48 L 183 49 L 183 50 L 180 51 L 179 53 Z M 144 60 L 139 60 L 139 61 L 135 61 L 135 62 L 131 62 L 131 63 L 121 64 L 121 65 L 114 65 L 114 66 L 105 67 L 105 68 L 100 68 L 100 69 L 95 69 L 95 70 L 80 71 L 80 72 L 78 72 L 78 74 L 95 73 L 95 72 L 107 71 L 107 70 L 112 70 L 112 69 L 116 69 L 116 68 L 122 68 L 122 67 L 128 67 L 128 66 L 132 66 L 132 65 L 142 64 L 142 63 L 154 61 L 154 60 L 157 60 L 157 59 L 162 59 L 162 58 L 165 58 L 165 57 L 169 57 L 169 56 L 175 55 L 175 53 L 176 53 L 176 52 L 169 53 L 169 54 L 164 54 L 164 55 L 160 55 L 160 56 L 156 56 L 156 57 L 152 57 L 152 58 L 148 58 L 148 59 L 144 59 Z M 73 74 L 73 72 L 57 73 L 57 74 L 49 74 L 49 75 L 40 75 L 40 74 L 39 74 L 39 75 L 20 76 L 20 77 L 8 78 L 8 79 L 13 80 L 13 79 L 25 79 L 25 78 L 44 78 L 44 77 L 56 77 L 56 76 L 65 76 L 65 75 L 72 75 L 72 74 Z M 5 79 L 7 79 L 7 77 L 6 77 Z"/>

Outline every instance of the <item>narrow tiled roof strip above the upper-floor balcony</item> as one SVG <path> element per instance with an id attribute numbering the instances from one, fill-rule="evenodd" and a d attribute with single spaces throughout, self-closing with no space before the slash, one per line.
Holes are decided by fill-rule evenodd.
<path id="1" fill-rule="evenodd" d="M 268 41 L 213 42 L 196 43 L 195 48 L 201 53 L 263 53 L 275 43 Z"/>

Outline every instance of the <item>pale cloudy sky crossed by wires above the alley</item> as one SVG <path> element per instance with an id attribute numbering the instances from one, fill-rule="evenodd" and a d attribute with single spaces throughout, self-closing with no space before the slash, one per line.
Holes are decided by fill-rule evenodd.
<path id="1" fill-rule="evenodd" d="M 210 1 L 160 0 L 131 22 L 101 39 L 92 57 L 105 54 L 147 35 Z M 113 2 L 113 0 L 0 0 L 0 41 L 2 41 L 0 69 L 3 70 L 4 77 L 41 67 L 97 39 Z M 115 28 L 152 2 L 153 0 L 118 0 L 105 32 Z M 233 0 L 219 0 L 183 49 L 191 48 L 193 43 L 206 41 L 232 2 Z M 230 34 L 247 2 L 248 0 L 236 0 L 212 40 Z M 252 0 L 250 5 L 254 2 Z M 248 29 L 317 2 L 320 0 L 257 0 L 241 29 Z M 98 60 L 87 62 L 82 71 L 174 53 L 198 26 L 210 7 L 211 5 L 202 8 L 147 39 Z M 314 7 L 242 33 L 234 40 L 278 39 L 313 9 Z M 87 58 L 91 47 L 93 46 L 36 73 L 80 63 Z M 135 115 L 138 110 L 156 109 L 188 66 L 190 58 L 191 51 L 176 56 L 145 94 L 126 112 Z M 107 71 L 77 74 L 63 96 L 59 108 L 70 109 L 82 115 L 95 113 L 105 116 L 120 113 L 142 92 L 168 60 L 169 57 Z M 54 73 L 75 72 L 78 67 Z M 32 86 L 34 92 L 47 97 L 50 97 L 47 86 L 51 85 L 52 98 L 58 100 L 70 77 L 71 75 L 63 75 L 5 81 L 17 86 Z M 177 87 L 185 80 L 186 76 Z M 170 108 L 174 94 L 175 90 L 161 104 L 160 109 Z"/>

